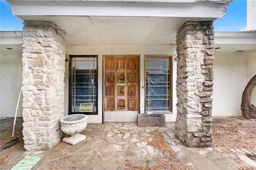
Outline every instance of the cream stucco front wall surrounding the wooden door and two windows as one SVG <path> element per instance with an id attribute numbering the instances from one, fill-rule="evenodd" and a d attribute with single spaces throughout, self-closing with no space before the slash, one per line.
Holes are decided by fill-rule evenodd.
<path id="1" fill-rule="evenodd" d="M 88 123 L 102 123 L 103 55 L 140 55 L 140 113 L 144 113 L 145 60 L 144 55 L 174 55 L 176 45 L 67 45 L 66 55 L 98 55 L 98 115 L 89 115 Z M 65 84 L 68 84 L 68 62 L 66 62 Z M 173 61 L 173 114 L 166 114 L 166 121 L 176 121 L 176 61 Z M 68 115 L 68 86 L 65 86 L 65 112 Z"/>

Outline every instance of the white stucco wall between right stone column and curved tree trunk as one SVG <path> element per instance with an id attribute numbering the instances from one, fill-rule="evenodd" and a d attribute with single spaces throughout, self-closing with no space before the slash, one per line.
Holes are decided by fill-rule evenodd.
<path id="1" fill-rule="evenodd" d="M 213 65 L 212 116 L 240 116 L 246 86 L 246 52 L 218 53 Z"/>

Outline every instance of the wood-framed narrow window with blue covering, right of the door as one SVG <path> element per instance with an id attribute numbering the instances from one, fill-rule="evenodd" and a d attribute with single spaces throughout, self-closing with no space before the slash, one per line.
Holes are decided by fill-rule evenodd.
<path id="1" fill-rule="evenodd" d="M 171 56 L 146 56 L 146 111 L 172 111 Z"/>

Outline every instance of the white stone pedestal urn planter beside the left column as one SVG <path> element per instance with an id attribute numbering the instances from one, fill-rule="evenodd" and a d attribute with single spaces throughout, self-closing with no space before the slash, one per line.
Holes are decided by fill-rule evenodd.
<path id="1" fill-rule="evenodd" d="M 60 119 L 60 128 L 64 133 L 70 135 L 69 137 L 64 137 L 63 142 L 74 146 L 86 139 L 86 135 L 80 134 L 80 132 L 82 132 L 86 126 L 87 115 L 74 114 L 62 117 Z"/>

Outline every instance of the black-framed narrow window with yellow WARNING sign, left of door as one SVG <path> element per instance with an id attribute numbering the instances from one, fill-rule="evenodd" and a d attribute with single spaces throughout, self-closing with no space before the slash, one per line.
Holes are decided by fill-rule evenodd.
<path id="1" fill-rule="evenodd" d="M 98 114 L 97 56 L 70 56 L 69 114 Z"/>

